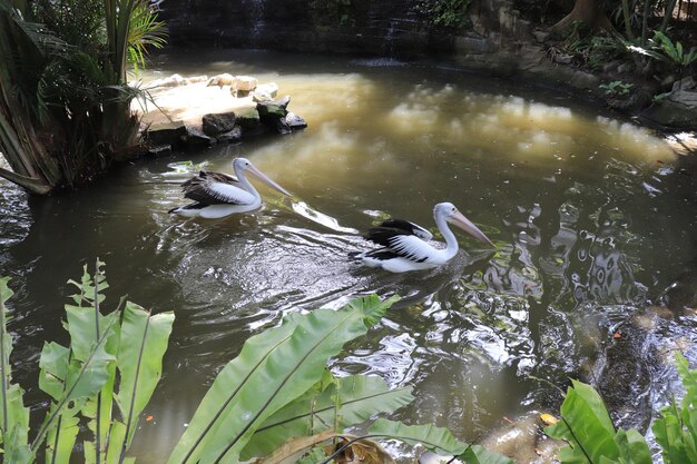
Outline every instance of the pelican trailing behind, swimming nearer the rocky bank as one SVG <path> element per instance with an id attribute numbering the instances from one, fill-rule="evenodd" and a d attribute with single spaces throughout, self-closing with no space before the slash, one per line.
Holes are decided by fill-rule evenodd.
<path id="1" fill-rule="evenodd" d="M 291 196 L 286 189 L 271 180 L 246 158 L 235 158 L 233 168 L 236 178 L 223 172 L 202 170 L 198 176 L 181 184 L 184 197 L 194 203 L 173 208 L 169 213 L 217 219 L 235 213 L 247 213 L 261 208 L 262 196 L 247 180 L 245 171 L 253 174 L 283 195 Z"/>

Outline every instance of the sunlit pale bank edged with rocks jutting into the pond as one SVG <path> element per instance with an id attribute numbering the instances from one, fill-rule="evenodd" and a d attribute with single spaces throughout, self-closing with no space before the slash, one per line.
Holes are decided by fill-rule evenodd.
<path id="1" fill-rule="evenodd" d="M 307 127 L 301 116 L 288 111 L 289 96 L 277 99 L 275 82 L 258 83 L 251 76 L 173 75 L 141 89 L 148 100 L 134 103 L 132 109 L 141 115 L 140 131 L 150 156 Z"/>

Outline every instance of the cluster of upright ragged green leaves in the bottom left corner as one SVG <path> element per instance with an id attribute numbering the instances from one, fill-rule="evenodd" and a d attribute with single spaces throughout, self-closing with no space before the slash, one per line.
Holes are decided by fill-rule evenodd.
<path id="1" fill-rule="evenodd" d="M 39 387 L 51 402 L 31 443 L 29 409 L 23 406 L 21 387 L 11 378 L 12 340 L 4 303 L 12 292 L 8 279 L 0 278 L 0 444 L 8 464 L 35 462 L 41 446 L 47 463 L 67 464 L 80 424 L 89 431 L 80 435 L 86 463 L 132 462 L 126 453 L 159 382 L 174 314 L 151 315 L 124 298 L 114 312 L 102 314 L 102 292 L 108 285 L 101 266 L 97 260 L 94 277 L 86 267 L 81 282 L 70 280 L 78 289 L 66 305 L 70 345 L 43 345 Z"/>

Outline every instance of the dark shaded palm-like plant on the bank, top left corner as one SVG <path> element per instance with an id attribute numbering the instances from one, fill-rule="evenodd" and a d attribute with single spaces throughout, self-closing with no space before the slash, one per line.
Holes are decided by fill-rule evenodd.
<path id="1" fill-rule="evenodd" d="M 35 194 L 88 181 L 137 145 L 128 57 L 164 43 L 147 0 L 0 0 L 4 177 Z"/>

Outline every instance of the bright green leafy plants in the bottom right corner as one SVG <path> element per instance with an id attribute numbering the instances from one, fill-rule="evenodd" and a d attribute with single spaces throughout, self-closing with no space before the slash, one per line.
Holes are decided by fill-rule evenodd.
<path id="1" fill-rule="evenodd" d="M 687 393 L 660 411 L 652 431 L 661 446 L 664 464 L 697 463 L 697 371 L 676 353 L 676 366 Z M 568 446 L 559 452 L 561 464 L 651 464 L 646 440 L 631 428 L 616 430 L 602 398 L 590 386 L 572 382 L 561 405 L 561 421 L 544 428 Z"/>

